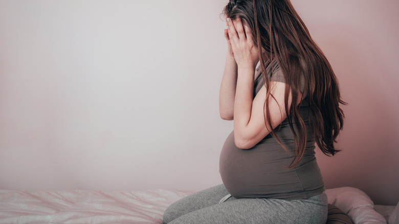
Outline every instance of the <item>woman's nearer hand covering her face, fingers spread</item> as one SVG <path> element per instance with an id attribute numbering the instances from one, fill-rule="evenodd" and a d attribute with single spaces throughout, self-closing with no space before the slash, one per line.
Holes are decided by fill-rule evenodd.
<path id="1" fill-rule="evenodd" d="M 258 48 L 255 46 L 251 30 L 248 26 L 242 25 L 241 19 L 233 22 L 227 18 L 227 36 L 225 37 L 230 44 L 233 57 L 238 67 L 255 68 L 259 61 Z"/>

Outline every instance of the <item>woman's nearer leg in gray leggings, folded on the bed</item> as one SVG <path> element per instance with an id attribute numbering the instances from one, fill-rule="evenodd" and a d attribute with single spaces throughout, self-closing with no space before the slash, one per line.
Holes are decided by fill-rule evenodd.
<path id="1" fill-rule="evenodd" d="M 234 198 L 186 213 L 170 223 L 325 223 L 325 194 L 303 200 Z"/>

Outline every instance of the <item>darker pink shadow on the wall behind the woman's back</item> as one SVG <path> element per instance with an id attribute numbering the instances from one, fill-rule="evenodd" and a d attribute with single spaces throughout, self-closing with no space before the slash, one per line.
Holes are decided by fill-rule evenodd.
<path id="1" fill-rule="evenodd" d="M 374 204 L 396 205 L 399 98 L 397 68 L 387 62 L 389 43 L 376 42 L 362 31 L 343 26 L 318 29 L 315 39 L 321 40 L 319 46 L 348 103 L 343 106 L 345 123 L 337 144 L 342 152 L 333 158 L 320 150 L 316 153 L 326 188 L 356 187 Z"/>

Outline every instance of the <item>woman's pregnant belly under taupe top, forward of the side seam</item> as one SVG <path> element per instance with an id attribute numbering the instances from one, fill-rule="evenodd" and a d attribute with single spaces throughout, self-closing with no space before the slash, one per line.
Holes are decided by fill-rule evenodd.
<path id="1" fill-rule="evenodd" d="M 220 153 L 219 172 L 231 195 L 278 197 L 303 190 L 295 169 L 286 168 L 292 160 L 290 153 L 268 137 L 251 149 L 237 148 L 234 132 L 226 139 Z M 290 142 L 286 140 L 284 144 L 289 146 Z"/>

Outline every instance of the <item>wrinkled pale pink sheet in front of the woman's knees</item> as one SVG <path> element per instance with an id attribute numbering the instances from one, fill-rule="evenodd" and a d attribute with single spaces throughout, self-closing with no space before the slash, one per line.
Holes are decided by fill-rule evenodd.
<path id="1" fill-rule="evenodd" d="M 165 209 L 190 192 L 16 191 L 0 189 L 0 223 L 162 223 Z"/>

